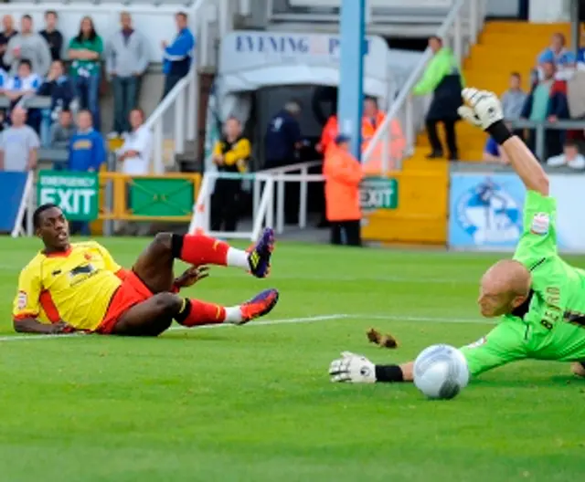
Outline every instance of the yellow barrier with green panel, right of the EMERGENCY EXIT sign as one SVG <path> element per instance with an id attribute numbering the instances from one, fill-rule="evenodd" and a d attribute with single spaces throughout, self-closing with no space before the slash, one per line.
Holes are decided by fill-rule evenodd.
<path id="1" fill-rule="evenodd" d="M 152 205 L 167 205 L 174 207 L 178 211 L 182 211 L 185 215 L 135 215 L 132 212 L 132 208 L 128 207 L 128 192 L 129 187 L 137 184 L 135 181 L 138 180 L 159 180 L 165 182 L 168 180 L 184 180 L 193 184 L 193 196 L 189 199 L 189 203 L 185 205 L 176 204 L 173 200 L 172 193 L 156 193 L 150 192 L 149 190 L 142 188 L 144 195 L 152 195 Z M 112 210 L 108 211 L 106 205 L 106 185 L 112 183 L 113 190 L 113 205 Z M 144 176 L 131 176 L 122 173 L 100 173 L 100 216 L 101 220 L 117 220 L 117 221 L 176 221 L 176 222 L 189 222 L 192 217 L 192 206 L 197 201 L 197 194 L 201 185 L 201 174 L 199 173 L 166 173 L 165 175 L 144 175 Z M 180 188 L 179 188 L 180 190 Z"/>

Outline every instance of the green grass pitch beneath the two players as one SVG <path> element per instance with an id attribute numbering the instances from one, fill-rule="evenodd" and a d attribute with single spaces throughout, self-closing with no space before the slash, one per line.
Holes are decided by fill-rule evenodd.
<path id="1" fill-rule="evenodd" d="M 125 267 L 147 242 L 102 240 Z M 328 380 L 342 350 L 404 361 L 480 338 L 491 325 L 478 278 L 495 256 L 281 244 L 268 280 L 217 267 L 187 290 L 234 304 L 279 288 L 274 324 L 6 341 L 18 272 L 37 249 L 0 239 L 1 481 L 583 478 L 585 382 L 568 364 L 488 372 L 449 402 Z M 399 350 L 368 345 L 372 326 Z"/>

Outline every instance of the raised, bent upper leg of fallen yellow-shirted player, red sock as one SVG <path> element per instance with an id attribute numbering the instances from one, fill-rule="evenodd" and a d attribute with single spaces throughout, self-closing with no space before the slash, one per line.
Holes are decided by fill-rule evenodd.
<path id="1" fill-rule="evenodd" d="M 257 278 L 269 273 L 274 233 L 266 228 L 250 253 L 202 235 L 159 233 L 133 266 L 133 271 L 153 293 L 169 291 L 175 258 L 195 266 L 218 265 L 250 270 Z"/>

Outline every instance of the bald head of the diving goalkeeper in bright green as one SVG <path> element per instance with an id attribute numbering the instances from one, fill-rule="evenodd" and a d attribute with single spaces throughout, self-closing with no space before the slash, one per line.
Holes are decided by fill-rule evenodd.
<path id="1" fill-rule="evenodd" d="M 482 315 L 493 318 L 511 313 L 519 307 L 530 292 L 530 273 L 513 260 L 503 260 L 490 267 L 482 277 L 479 305 Z"/>

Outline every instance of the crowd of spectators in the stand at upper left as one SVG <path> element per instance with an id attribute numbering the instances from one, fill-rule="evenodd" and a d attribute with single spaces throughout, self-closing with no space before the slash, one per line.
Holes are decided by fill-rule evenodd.
<path id="1" fill-rule="evenodd" d="M 142 128 L 139 107 L 141 79 L 152 58 L 144 33 L 134 29 L 126 12 L 108 38 L 100 36 L 90 16 L 70 39 L 58 29 L 57 12 L 46 12 L 44 19 L 36 32 L 31 16 L 20 18 L 19 29 L 12 16 L 2 18 L 0 170 L 34 169 L 39 147 L 67 150 L 68 161 L 60 168 L 98 170 L 106 161 L 107 137 L 123 139 L 117 152 L 123 173 L 149 173 L 152 133 Z M 185 13 L 176 14 L 176 37 L 161 46 L 163 97 L 191 68 L 195 38 L 187 23 Z M 112 89 L 114 105 L 107 136 L 101 133 L 100 111 L 105 86 Z M 17 155 L 8 155 L 10 150 Z"/>

